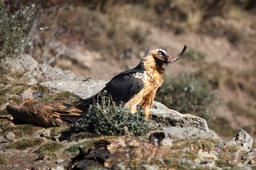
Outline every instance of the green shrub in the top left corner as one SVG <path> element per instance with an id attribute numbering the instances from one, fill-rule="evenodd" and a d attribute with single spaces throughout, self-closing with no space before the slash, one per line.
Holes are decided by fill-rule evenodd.
<path id="1" fill-rule="evenodd" d="M 28 6 L 21 7 L 16 13 L 9 11 L 9 6 L 0 3 L 0 60 L 23 52 L 29 41 L 26 29 L 35 8 Z"/>

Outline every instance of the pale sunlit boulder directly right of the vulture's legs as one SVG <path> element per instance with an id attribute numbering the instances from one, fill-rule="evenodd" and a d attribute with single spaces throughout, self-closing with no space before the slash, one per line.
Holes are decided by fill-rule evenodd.
<path id="1" fill-rule="evenodd" d="M 154 120 L 164 123 L 164 132 L 168 137 L 178 138 L 211 138 L 221 140 L 218 135 L 209 130 L 206 120 L 196 115 L 181 114 L 167 108 L 162 103 L 153 102 L 151 116 Z"/>

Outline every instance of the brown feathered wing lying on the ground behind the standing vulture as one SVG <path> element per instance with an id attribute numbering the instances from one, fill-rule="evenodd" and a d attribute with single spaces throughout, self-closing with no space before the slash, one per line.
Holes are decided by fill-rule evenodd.
<path id="1" fill-rule="evenodd" d="M 43 127 L 73 123 L 80 118 L 78 108 L 62 103 L 27 102 L 23 106 L 9 105 L 6 110 L 14 119 Z"/>

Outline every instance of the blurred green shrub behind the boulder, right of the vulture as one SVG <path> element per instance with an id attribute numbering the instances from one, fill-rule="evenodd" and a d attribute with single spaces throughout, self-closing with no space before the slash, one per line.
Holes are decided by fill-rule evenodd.
<path id="1" fill-rule="evenodd" d="M 180 74 L 164 79 L 157 101 L 181 113 L 193 113 L 208 119 L 216 104 L 216 93 L 206 81 L 196 79 L 193 74 Z"/>

